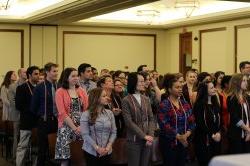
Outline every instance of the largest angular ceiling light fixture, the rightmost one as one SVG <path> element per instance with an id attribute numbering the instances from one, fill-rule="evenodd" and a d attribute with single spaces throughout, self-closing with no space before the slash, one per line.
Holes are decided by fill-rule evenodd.
<path id="1" fill-rule="evenodd" d="M 175 8 L 181 8 L 185 10 L 186 17 L 189 18 L 195 9 L 200 7 L 199 0 L 176 0 Z"/>

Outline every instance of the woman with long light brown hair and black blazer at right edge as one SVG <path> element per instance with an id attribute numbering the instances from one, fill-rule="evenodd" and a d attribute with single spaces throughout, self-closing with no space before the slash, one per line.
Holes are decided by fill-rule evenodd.
<path id="1" fill-rule="evenodd" d="M 227 108 L 230 114 L 228 127 L 229 150 L 232 154 L 250 152 L 250 108 L 247 76 L 234 74 L 229 84 Z"/>

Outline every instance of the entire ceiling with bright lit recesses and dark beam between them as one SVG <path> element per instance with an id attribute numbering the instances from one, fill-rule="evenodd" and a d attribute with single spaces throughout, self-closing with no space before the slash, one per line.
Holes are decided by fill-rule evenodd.
<path id="1" fill-rule="evenodd" d="M 0 3 L 2 1 L 7 0 L 0 0 Z M 176 0 L 9 0 L 9 2 L 7 10 L 0 10 L 0 22 L 169 28 L 250 17 L 250 3 L 236 1 L 199 0 L 199 7 L 195 8 L 189 18 L 185 14 L 185 9 L 175 8 Z M 159 12 L 159 16 L 151 20 L 148 17 L 138 16 L 138 10 L 155 10 Z"/>

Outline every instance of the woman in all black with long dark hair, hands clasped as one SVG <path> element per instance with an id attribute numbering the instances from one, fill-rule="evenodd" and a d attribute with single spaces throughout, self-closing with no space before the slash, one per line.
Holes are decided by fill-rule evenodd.
<path id="1" fill-rule="evenodd" d="M 208 165 L 210 159 L 220 154 L 221 119 L 216 89 L 211 81 L 200 83 L 194 103 L 196 129 L 195 152 L 200 165 Z"/>

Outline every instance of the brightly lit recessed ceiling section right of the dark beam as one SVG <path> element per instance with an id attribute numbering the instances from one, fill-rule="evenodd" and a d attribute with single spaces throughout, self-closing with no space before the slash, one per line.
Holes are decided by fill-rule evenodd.
<path id="1" fill-rule="evenodd" d="M 197 0 L 198 1 L 198 0 Z M 105 25 L 105 26 L 143 26 L 150 27 L 171 27 L 184 22 L 195 20 L 229 16 L 236 16 L 239 13 L 250 13 L 250 3 L 236 1 L 199 0 L 199 7 L 195 8 L 192 15 L 187 18 L 186 12 L 190 9 L 176 8 L 176 0 L 161 0 L 146 5 L 132 7 L 125 10 L 108 13 L 89 19 L 80 20 L 76 24 L 83 25 Z M 159 16 L 149 18 L 138 16 L 140 10 L 155 10 Z M 151 21 L 150 21 L 151 20 Z"/>

